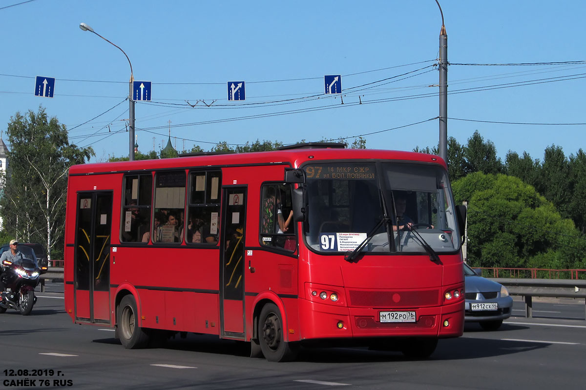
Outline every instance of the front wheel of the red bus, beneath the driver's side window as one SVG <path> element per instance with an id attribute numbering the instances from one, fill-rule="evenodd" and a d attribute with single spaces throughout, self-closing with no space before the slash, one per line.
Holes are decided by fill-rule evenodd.
<path id="1" fill-rule="evenodd" d="M 284 341 L 281 312 L 274 303 L 268 303 L 260 312 L 258 341 L 268 361 L 291 361 L 297 357 L 299 345 Z"/>

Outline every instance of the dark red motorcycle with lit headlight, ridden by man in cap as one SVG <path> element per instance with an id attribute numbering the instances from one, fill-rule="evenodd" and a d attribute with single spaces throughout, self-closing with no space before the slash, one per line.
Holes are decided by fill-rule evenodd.
<path id="1" fill-rule="evenodd" d="M 40 275 L 47 272 L 47 267 L 39 267 L 35 260 L 23 258 L 19 263 L 2 261 L 4 272 L 0 276 L 6 291 L 0 296 L 0 313 L 12 308 L 28 316 L 36 302 L 35 287 L 40 282 Z"/>

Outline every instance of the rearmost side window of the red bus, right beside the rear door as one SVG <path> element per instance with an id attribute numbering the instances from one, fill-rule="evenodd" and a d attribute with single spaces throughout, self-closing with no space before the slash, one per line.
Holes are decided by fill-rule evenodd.
<path id="1" fill-rule="evenodd" d="M 151 226 L 152 174 L 126 175 L 123 196 L 120 241 L 141 242 Z"/>

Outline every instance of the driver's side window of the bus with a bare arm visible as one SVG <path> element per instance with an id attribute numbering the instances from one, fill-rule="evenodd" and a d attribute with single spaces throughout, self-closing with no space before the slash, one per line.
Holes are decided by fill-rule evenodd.
<path id="1" fill-rule="evenodd" d="M 293 222 L 291 185 L 263 185 L 261 195 L 261 245 L 294 251 L 297 239 Z"/>

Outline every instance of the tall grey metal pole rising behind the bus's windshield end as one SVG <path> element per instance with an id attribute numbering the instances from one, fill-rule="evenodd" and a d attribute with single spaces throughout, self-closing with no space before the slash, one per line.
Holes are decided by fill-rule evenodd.
<path id="1" fill-rule="evenodd" d="M 445 31 L 444 12 L 441 13 L 440 30 L 440 157 L 448 163 L 448 33 Z"/>

